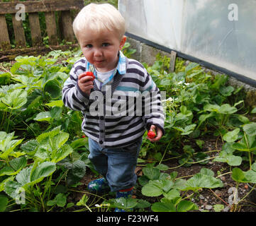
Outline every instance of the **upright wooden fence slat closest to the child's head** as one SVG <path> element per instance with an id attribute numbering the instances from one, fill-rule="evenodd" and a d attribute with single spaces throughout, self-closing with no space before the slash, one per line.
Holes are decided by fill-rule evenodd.
<path id="1" fill-rule="evenodd" d="M 72 18 L 70 16 L 70 11 L 61 12 L 62 21 L 62 34 L 67 42 L 74 42 L 74 33 L 72 29 Z"/>

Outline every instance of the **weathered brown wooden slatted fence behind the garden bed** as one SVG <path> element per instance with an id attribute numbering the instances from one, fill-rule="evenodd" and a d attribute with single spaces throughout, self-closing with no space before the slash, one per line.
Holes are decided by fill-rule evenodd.
<path id="1" fill-rule="evenodd" d="M 43 37 L 41 37 L 40 20 L 38 12 L 45 13 L 45 25 L 48 36 L 49 45 L 58 44 L 58 32 L 56 25 L 55 12 L 61 11 L 60 13 L 60 28 L 63 39 L 67 42 L 74 42 L 74 33 L 72 30 L 72 16 L 70 11 L 79 11 L 84 6 L 83 0 L 40 0 L 40 1 L 11 1 L 3 2 L 0 0 L 0 49 L 1 55 L 6 54 L 6 51 L 13 51 L 11 49 L 11 42 L 9 37 L 10 28 L 8 31 L 6 23 L 6 14 L 11 14 L 13 32 L 16 41 L 16 49 L 26 49 L 26 35 L 23 29 L 23 20 L 17 19 L 22 13 L 28 13 L 30 35 L 33 47 L 43 46 Z M 21 4 L 21 5 L 18 5 Z M 19 7 L 17 7 L 19 6 Z M 18 9 L 17 9 L 18 8 Z M 1 56 L 0 56 L 1 59 Z"/>

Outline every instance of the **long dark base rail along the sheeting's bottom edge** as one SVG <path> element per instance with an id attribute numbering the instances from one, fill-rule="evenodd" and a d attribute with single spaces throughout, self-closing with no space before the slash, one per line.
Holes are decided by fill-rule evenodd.
<path id="1" fill-rule="evenodd" d="M 217 66 L 216 64 L 212 64 L 212 63 L 210 63 L 208 61 L 201 60 L 201 59 L 193 57 L 193 56 L 191 56 L 189 54 L 184 54 L 183 52 L 177 51 L 177 49 L 170 49 L 170 48 L 165 47 L 165 46 L 163 46 L 161 44 L 157 44 L 157 43 L 152 42 L 150 40 L 146 40 L 143 37 L 140 37 L 140 36 L 137 36 L 137 35 L 133 35 L 130 32 L 126 32 L 126 36 L 130 37 L 130 38 L 132 38 L 134 40 L 138 40 L 139 42 L 143 42 L 145 44 L 148 44 L 151 47 L 155 47 L 155 48 L 160 49 L 160 50 L 162 50 L 164 52 L 167 52 L 167 53 L 171 53 L 172 51 L 174 51 L 174 52 L 177 53 L 177 57 L 181 57 L 183 59 L 187 59 L 189 61 L 196 62 L 196 63 L 200 64 L 201 66 L 204 66 L 204 67 L 206 67 L 208 69 L 211 69 L 213 71 L 218 71 L 220 73 L 225 73 L 228 76 L 236 78 L 238 81 L 241 81 L 241 82 L 246 83 L 248 85 L 252 85 L 253 87 L 256 88 L 256 81 L 255 80 L 253 80 L 252 78 L 247 78 L 246 76 L 243 76 L 240 73 L 235 73 L 234 71 L 230 71 L 230 70 L 225 69 L 225 68 L 223 68 L 221 66 Z"/>

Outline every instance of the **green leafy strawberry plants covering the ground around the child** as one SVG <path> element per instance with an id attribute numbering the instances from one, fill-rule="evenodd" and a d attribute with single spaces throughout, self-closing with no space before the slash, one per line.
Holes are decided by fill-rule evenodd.
<path id="1" fill-rule="evenodd" d="M 124 52 L 133 54 L 128 47 Z M 81 56 L 78 50 L 17 57 L 0 73 L 0 210 L 199 211 L 196 200 L 201 191 L 223 189 L 221 172 L 215 177 L 206 169 L 209 161 L 226 164 L 229 171 L 223 174 L 231 175 L 235 187 L 255 184 L 256 128 L 247 117 L 243 95 L 238 95 L 241 88 L 227 85 L 228 76 L 213 76 L 199 64 L 185 65 L 181 59 L 170 73 L 167 57 L 158 56 L 152 66 L 144 65 L 166 91 L 165 136 L 157 143 L 146 138 L 152 131 L 143 136 L 136 197 L 89 194 L 81 180 L 87 174 L 99 175 L 88 159 L 82 114 L 67 109 L 61 100 L 62 85 Z M 221 150 L 205 152 L 207 136 L 221 141 Z M 169 160 L 177 165 L 172 167 Z M 186 179 L 172 171 L 194 165 L 201 170 Z M 25 203 L 18 206 L 15 201 L 22 192 Z M 81 200 L 70 201 L 77 193 L 83 194 Z"/>

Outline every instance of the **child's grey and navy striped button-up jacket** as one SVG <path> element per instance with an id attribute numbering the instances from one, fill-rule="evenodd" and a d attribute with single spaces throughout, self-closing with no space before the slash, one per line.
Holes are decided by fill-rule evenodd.
<path id="1" fill-rule="evenodd" d="M 82 112 L 86 136 L 102 148 L 116 148 L 133 143 L 152 124 L 165 133 L 160 90 L 142 64 L 120 52 L 113 79 L 101 90 L 94 81 L 90 96 L 77 85 L 79 74 L 85 71 L 94 69 L 82 57 L 74 63 L 64 83 L 62 100 L 66 107 Z"/>

